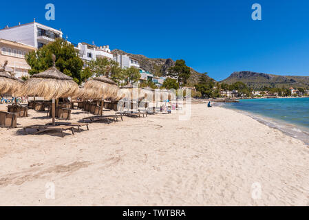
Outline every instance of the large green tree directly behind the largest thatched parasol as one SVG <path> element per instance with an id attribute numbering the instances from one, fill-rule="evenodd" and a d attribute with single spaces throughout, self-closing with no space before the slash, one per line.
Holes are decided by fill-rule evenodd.
<path id="1" fill-rule="evenodd" d="M 63 39 L 56 39 L 39 50 L 25 55 L 25 61 L 31 67 L 29 74 L 38 74 L 52 67 L 52 54 L 56 56 L 57 69 L 80 84 L 83 61 L 79 58 L 74 46 Z"/>

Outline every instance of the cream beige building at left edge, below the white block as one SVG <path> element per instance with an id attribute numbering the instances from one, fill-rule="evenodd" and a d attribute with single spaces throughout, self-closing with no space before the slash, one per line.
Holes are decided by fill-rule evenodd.
<path id="1" fill-rule="evenodd" d="M 7 67 L 13 69 L 15 77 L 29 76 L 28 71 L 31 68 L 25 61 L 25 54 L 34 50 L 36 48 L 30 45 L 0 39 L 0 65 L 8 61 Z"/>

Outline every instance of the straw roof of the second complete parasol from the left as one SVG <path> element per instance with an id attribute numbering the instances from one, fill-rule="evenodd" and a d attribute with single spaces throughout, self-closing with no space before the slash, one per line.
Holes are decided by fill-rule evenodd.
<path id="1" fill-rule="evenodd" d="M 117 83 L 105 76 L 100 76 L 85 83 L 84 89 L 81 89 L 80 98 L 92 100 L 116 98 L 118 90 Z"/>

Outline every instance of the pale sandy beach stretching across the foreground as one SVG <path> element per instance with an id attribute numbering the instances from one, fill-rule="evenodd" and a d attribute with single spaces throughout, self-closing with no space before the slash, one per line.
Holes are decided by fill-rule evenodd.
<path id="1" fill-rule="evenodd" d="M 51 121 L 29 114 L 19 126 Z M 72 122 L 85 116 L 74 110 Z M 0 205 L 309 206 L 306 144 L 221 107 L 193 104 L 190 120 L 178 117 L 125 117 L 65 137 L 0 128 Z"/>

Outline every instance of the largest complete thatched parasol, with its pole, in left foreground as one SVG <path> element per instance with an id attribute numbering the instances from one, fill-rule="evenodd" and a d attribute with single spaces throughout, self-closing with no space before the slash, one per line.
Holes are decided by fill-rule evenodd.
<path id="1" fill-rule="evenodd" d="M 56 57 L 53 55 L 54 66 L 39 74 L 34 74 L 22 86 L 23 95 L 41 96 L 52 99 L 52 125 L 55 125 L 55 99 L 74 96 L 78 85 L 74 80 L 55 66 Z"/>

